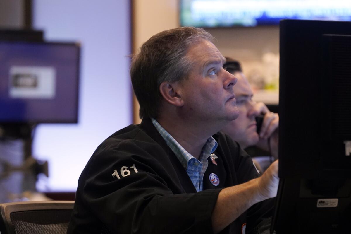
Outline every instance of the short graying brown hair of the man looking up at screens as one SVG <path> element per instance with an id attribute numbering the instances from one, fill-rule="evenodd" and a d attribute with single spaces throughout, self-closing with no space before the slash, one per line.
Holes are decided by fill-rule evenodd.
<path id="1" fill-rule="evenodd" d="M 163 98 L 160 84 L 187 78 L 194 62 L 187 51 L 201 40 L 213 42 L 214 38 L 202 28 L 179 27 L 155 34 L 140 47 L 130 70 L 140 118 L 157 118 Z"/>

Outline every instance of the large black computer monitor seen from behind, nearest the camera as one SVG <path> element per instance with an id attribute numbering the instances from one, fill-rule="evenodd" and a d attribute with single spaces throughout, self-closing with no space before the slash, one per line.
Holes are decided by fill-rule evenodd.
<path id="1" fill-rule="evenodd" d="M 280 22 L 279 189 L 272 230 L 350 233 L 351 22 Z"/>

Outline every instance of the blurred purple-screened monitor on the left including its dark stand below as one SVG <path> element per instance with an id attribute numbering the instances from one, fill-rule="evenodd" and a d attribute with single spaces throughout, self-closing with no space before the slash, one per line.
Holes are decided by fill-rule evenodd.
<path id="1" fill-rule="evenodd" d="M 22 193 L 48 176 L 32 155 L 35 126 L 78 121 L 80 46 L 30 32 L 0 31 L 0 202 L 30 199 Z"/>

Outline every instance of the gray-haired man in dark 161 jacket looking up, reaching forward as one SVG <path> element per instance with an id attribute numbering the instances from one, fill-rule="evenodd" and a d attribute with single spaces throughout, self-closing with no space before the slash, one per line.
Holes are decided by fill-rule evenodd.
<path id="1" fill-rule="evenodd" d="M 276 196 L 278 164 L 259 176 L 218 132 L 238 117 L 237 78 L 211 41 L 181 27 L 141 46 L 131 80 L 143 121 L 94 152 L 68 233 L 245 233 L 265 218 L 261 201 Z"/>

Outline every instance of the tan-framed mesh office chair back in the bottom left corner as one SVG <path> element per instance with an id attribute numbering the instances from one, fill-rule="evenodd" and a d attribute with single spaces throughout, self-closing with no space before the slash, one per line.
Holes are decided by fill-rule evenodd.
<path id="1" fill-rule="evenodd" d="M 74 201 L 0 204 L 1 234 L 66 234 Z"/>

